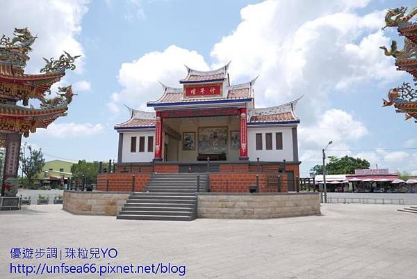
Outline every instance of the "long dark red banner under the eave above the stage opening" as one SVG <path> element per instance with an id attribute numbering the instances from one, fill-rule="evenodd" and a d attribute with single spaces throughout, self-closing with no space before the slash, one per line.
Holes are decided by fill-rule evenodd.
<path id="1" fill-rule="evenodd" d="M 162 118 L 181 118 L 181 117 L 203 117 L 203 116 L 225 116 L 238 115 L 236 108 L 218 109 L 185 109 L 182 111 L 161 111 Z"/>

